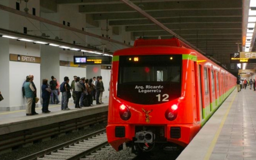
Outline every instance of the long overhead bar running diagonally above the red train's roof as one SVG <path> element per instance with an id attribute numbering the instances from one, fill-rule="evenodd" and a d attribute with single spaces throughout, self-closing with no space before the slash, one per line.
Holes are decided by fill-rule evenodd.
<path id="1" fill-rule="evenodd" d="M 160 26 L 162 29 L 164 29 L 165 31 L 167 31 L 168 33 L 172 34 L 173 36 L 175 36 L 176 38 L 182 40 L 182 42 L 184 42 L 185 44 L 189 45 L 191 48 L 193 48 L 194 50 L 198 51 L 199 53 L 202 53 L 204 55 L 207 55 L 206 53 L 204 53 L 202 50 L 200 50 L 199 48 L 197 48 L 196 46 L 190 44 L 188 41 L 186 41 L 184 38 L 182 38 L 181 36 L 179 36 L 178 34 L 176 34 L 175 32 L 173 32 L 172 30 L 170 30 L 168 27 L 164 26 L 164 24 L 162 24 L 161 22 L 159 22 L 158 20 L 156 20 L 156 18 L 150 16 L 150 14 L 148 14 L 147 12 L 145 12 L 144 10 L 140 9 L 140 7 L 136 6 L 136 4 L 132 3 L 130 0 L 120 0 L 122 2 L 124 2 L 126 5 L 130 6 L 131 8 L 133 8 L 134 10 L 136 10 L 137 12 L 139 12 L 140 14 L 142 14 L 144 17 L 148 18 L 148 20 L 151 20 L 152 22 L 154 22 L 154 24 Z M 213 61 L 215 61 L 218 64 L 221 64 L 219 61 L 215 60 L 214 58 L 209 58 Z M 225 67 L 222 65 L 222 67 Z M 225 67 L 226 68 L 226 67 Z M 226 68 L 227 69 L 227 68 Z"/>

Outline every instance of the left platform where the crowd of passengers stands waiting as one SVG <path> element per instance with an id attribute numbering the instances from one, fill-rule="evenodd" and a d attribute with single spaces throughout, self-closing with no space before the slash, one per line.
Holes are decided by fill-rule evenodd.
<path id="1" fill-rule="evenodd" d="M 108 111 L 108 99 L 102 99 L 103 104 L 75 108 L 75 104 L 68 104 L 70 110 L 60 110 L 60 104 L 49 105 L 49 114 L 43 114 L 42 108 L 36 108 L 37 115 L 26 116 L 26 110 L 0 112 L 0 135 L 46 126 L 49 124 L 72 120 Z"/>

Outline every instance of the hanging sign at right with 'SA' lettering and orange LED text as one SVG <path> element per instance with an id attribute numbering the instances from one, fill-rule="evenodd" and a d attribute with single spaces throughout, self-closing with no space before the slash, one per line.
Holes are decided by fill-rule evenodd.
<path id="1" fill-rule="evenodd" d="M 235 52 L 230 54 L 231 63 L 256 63 L 256 52 Z"/>

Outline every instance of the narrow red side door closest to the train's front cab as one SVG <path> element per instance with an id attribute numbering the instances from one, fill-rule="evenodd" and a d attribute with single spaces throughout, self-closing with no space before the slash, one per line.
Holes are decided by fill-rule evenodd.
<path id="1" fill-rule="evenodd" d="M 197 120 L 200 121 L 204 119 L 204 114 L 203 114 L 203 98 L 202 98 L 202 79 L 201 79 L 201 74 L 202 74 L 202 66 L 197 65 L 195 62 L 195 68 L 196 68 L 196 101 L 197 101 Z"/>

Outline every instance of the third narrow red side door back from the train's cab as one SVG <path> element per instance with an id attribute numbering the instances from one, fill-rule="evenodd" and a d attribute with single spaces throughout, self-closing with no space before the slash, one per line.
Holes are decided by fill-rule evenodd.
<path id="1" fill-rule="evenodd" d="M 210 88 L 210 110 L 212 111 L 215 108 L 215 87 L 214 87 L 214 72 L 213 70 L 208 69 L 209 72 L 209 88 Z"/>

